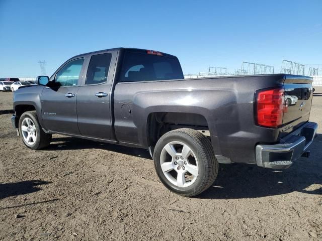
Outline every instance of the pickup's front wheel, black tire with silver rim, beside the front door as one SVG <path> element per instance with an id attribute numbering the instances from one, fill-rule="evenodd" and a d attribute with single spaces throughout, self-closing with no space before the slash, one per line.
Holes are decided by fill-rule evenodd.
<path id="1" fill-rule="evenodd" d="M 25 146 L 32 150 L 48 147 L 51 142 L 51 134 L 42 130 L 36 111 L 27 111 L 20 116 L 19 134 Z"/>

